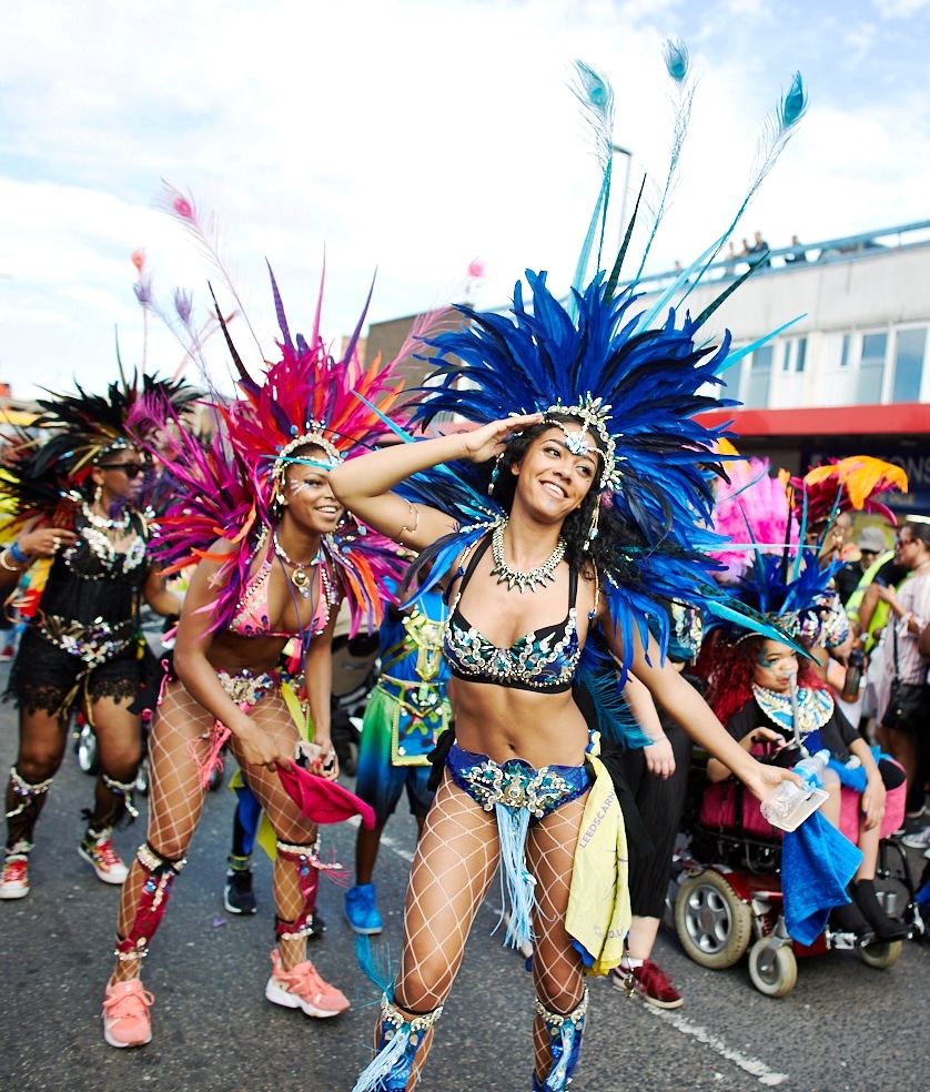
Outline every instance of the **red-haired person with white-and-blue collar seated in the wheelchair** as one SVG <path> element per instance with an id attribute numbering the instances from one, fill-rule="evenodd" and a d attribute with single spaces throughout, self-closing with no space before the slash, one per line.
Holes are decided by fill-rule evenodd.
<path id="1" fill-rule="evenodd" d="M 707 699 L 741 747 L 757 757 L 762 751 L 762 760 L 768 752 L 767 759 L 779 766 L 793 766 L 805 752 L 821 748 L 830 751 L 823 776 L 829 799 L 822 812 L 862 852 L 862 862 L 850 883 L 852 901 L 833 909 L 833 927 L 862 938 L 871 933 L 881 941 L 907 936 L 907 927 L 886 914 L 875 889 L 879 841 L 896 825 L 887 813 L 887 793 L 900 789 L 903 771 L 887 758 L 876 759 L 837 707 L 813 661 L 799 661 L 791 646 L 755 635 L 716 644 Z M 710 758 L 707 776 L 716 782 L 731 775 L 722 762 Z M 841 821 L 843 788 L 858 798 L 858 822 L 852 830 Z M 883 822 L 887 815 L 888 821 Z"/>

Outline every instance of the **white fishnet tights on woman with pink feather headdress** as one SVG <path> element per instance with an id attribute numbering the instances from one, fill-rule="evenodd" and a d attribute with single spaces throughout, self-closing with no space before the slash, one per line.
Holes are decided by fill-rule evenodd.
<path id="1" fill-rule="evenodd" d="M 282 752 L 293 754 L 297 729 L 277 690 L 269 690 L 251 710 L 252 719 L 273 736 Z M 190 745 L 195 744 L 201 757 L 206 755 L 209 741 L 199 739 L 209 732 L 213 716 L 188 694 L 176 679 L 169 683 L 161 705 L 152 721 L 149 737 L 149 831 L 151 847 L 171 861 L 182 860 L 203 812 L 205 790 L 200 787 L 196 764 L 191 757 Z M 249 786 L 264 808 L 279 840 L 295 846 L 312 846 L 316 840 L 316 825 L 305 819 L 281 786 L 276 772 L 262 766 L 245 766 L 235 736 L 230 738 L 232 750 L 249 776 Z M 117 931 L 125 937 L 132 929 L 145 871 L 133 861 L 120 899 Z M 277 857 L 274 863 L 275 910 L 283 921 L 294 921 L 303 909 L 300 879 L 292 862 Z M 290 970 L 302 962 L 306 954 L 306 938 L 279 940 L 281 962 Z M 114 981 L 125 981 L 139 975 L 138 959 L 118 961 Z"/>

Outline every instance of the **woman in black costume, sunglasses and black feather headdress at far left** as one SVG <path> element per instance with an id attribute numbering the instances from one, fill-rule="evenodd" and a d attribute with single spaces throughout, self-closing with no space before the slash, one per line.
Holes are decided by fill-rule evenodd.
<path id="1" fill-rule="evenodd" d="M 144 376 L 143 390 L 178 406 L 190 388 Z M 122 883 L 127 867 L 112 831 L 135 816 L 132 788 L 142 757 L 141 720 L 131 706 L 143 687 L 146 601 L 176 614 L 148 558 L 141 496 L 150 468 L 127 431 L 135 384 L 107 395 L 59 395 L 40 402 L 37 424 L 54 434 L 20 452 L 0 481 L 13 515 L 0 553 L 0 587 L 26 623 L 7 696 L 19 706 L 20 742 L 7 786 L 6 859 L 0 899 L 29 893 L 36 821 L 64 755 L 75 709 L 97 734 L 100 772 L 80 856 L 104 883 Z"/>

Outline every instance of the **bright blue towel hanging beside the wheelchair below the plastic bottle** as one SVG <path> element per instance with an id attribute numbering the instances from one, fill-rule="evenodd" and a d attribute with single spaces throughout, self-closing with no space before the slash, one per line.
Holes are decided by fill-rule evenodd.
<path id="1" fill-rule="evenodd" d="M 823 931 L 832 907 L 850 901 L 847 887 L 862 853 L 819 811 L 797 830 L 786 831 L 781 845 L 781 894 L 788 934 L 812 944 Z"/>

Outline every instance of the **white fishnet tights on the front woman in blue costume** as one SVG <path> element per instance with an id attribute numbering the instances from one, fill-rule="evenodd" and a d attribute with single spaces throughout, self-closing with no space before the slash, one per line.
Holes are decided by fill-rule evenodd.
<path id="1" fill-rule="evenodd" d="M 554 1012 L 570 1012 L 584 994 L 582 959 L 565 931 L 565 911 L 585 796 L 556 808 L 530 826 L 526 857 L 536 877 L 533 928 L 533 982 L 536 995 Z M 494 812 L 485 811 L 448 775 L 426 817 L 407 889 L 404 949 L 395 990 L 398 1008 L 413 1013 L 443 1004 L 452 990 L 465 941 L 501 856 Z M 488 1029 L 489 1032 L 491 1029 Z M 432 1042 L 415 1061 L 416 1083 Z M 536 1073 L 549 1071 L 549 1034 L 534 1018 Z"/>

